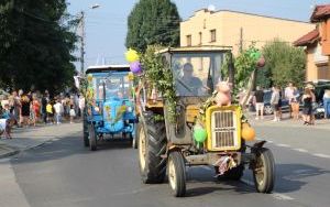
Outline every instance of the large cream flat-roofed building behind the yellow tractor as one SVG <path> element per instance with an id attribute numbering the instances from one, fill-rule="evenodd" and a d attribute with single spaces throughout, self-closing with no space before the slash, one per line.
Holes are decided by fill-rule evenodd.
<path id="1" fill-rule="evenodd" d="M 315 28 L 308 22 L 272 18 L 253 13 L 207 9 L 198 10 L 180 23 L 180 46 L 232 46 L 233 54 L 252 42 L 262 47 L 274 39 L 293 43 L 301 33 Z"/>

